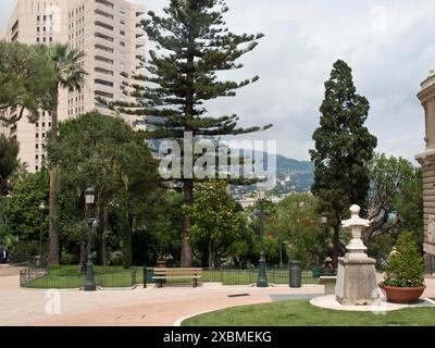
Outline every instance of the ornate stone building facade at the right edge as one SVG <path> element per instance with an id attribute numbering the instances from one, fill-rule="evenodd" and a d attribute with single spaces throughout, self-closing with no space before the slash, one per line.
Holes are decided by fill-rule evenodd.
<path id="1" fill-rule="evenodd" d="M 424 152 L 415 159 L 423 169 L 424 253 L 428 273 L 435 273 L 435 72 L 421 84 L 418 95 L 425 120 Z"/>

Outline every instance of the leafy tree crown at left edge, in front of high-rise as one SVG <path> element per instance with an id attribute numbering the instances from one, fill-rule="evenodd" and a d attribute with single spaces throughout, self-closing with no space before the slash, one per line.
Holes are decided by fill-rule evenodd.
<path id="1" fill-rule="evenodd" d="M 13 124 L 27 110 L 37 121 L 38 110 L 51 108 L 54 72 L 44 46 L 0 41 L 0 121 Z M 10 112 L 10 108 L 12 111 Z"/>

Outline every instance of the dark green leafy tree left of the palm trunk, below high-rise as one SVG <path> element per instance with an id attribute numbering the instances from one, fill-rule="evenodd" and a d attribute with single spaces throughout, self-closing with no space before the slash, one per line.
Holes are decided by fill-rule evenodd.
<path id="1" fill-rule="evenodd" d="M 28 252 L 37 252 L 39 240 L 39 204 L 48 201 L 48 173 L 42 170 L 27 174 L 16 182 L 5 209 L 7 225 L 11 234 L 27 245 Z M 47 232 L 48 216 L 44 217 L 44 232 Z M 42 235 L 46 243 L 47 235 Z"/>

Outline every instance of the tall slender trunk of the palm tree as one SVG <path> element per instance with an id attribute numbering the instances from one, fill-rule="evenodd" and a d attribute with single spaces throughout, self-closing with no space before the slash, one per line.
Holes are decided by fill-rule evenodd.
<path id="1" fill-rule="evenodd" d="M 58 140 L 58 98 L 59 88 L 57 86 L 54 94 L 54 108 L 51 111 L 51 139 Z M 52 167 L 50 170 L 50 192 L 49 192 L 49 247 L 48 247 L 48 264 L 59 264 L 59 170 Z"/>

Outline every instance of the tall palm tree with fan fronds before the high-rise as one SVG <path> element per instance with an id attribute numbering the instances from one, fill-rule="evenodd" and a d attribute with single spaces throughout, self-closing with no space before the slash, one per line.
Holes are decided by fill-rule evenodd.
<path id="1" fill-rule="evenodd" d="M 51 139 L 57 141 L 59 90 L 60 88 L 65 88 L 69 89 L 69 91 L 73 91 L 83 87 L 86 72 L 82 67 L 79 61 L 85 57 L 85 54 L 82 51 L 71 49 L 69 45 L 63 44 L 54 44 L 49 46 L 48 54 L 53 62 L 53 67 L 55 71 L 52 90 Z M 50 169 L 49 264 L 59 264 L 59 170 L 53 166 Z"/>

